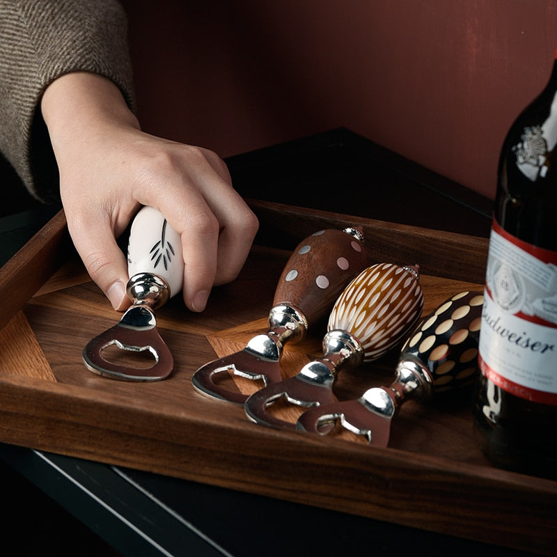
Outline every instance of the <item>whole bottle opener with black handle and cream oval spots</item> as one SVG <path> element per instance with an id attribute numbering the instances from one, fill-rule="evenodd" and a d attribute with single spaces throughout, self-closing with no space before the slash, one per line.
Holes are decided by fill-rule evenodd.
<path id="1" fill-rule="evenodd" d="M 476 377 L 482 306 L 483 292 L 450 297 L 423 319 L 402 347 L 391 386 L 308 409 L 298 418 L 297 429 L 327 434 L 340 423 L 368 443 L 386 447 L 391 420 L 405 400 L 429 400 Z"/>

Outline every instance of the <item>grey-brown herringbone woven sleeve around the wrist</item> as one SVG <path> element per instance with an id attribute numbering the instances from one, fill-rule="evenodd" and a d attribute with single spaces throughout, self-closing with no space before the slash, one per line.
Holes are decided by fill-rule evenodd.
<path id="1" fill-rule="evenodd" d="M 111 79 L 134 108 L 127 19 L 116 0 L 0 0 L 0 150 L 45 203 L 59 186 L 40 97 L 74 71 Z"/>

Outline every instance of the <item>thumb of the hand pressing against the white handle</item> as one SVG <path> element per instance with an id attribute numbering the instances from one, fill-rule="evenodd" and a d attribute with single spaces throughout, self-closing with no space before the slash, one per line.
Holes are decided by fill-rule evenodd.
<path id="1" fill-rule="evenodd" d="M 126 294 L 127 262 L 111 227 L 102 221 L 90 222 L 88 226 L 72 226 L 68 222 L 68 230 L 89 276 L 115 310 L 125 310 L 130 306 Z"/>

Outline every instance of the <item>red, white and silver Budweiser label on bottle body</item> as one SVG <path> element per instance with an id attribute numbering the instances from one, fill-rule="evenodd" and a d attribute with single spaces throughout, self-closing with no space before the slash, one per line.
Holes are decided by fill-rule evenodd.
<path id="1" fill-rule="evenodd" d="M 557 405 L 557 252 L 493 222 L 479 363 L 513 395 Z"/>

